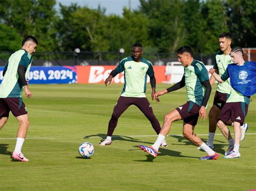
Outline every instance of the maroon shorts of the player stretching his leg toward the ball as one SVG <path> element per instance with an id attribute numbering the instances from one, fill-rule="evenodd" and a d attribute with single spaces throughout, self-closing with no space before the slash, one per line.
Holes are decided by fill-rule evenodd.
<path id="1" fill-rule="evenodd" d="M 190 125 L 196 126 L 198 116 L 199 116 L 199 109 L 200 106 L 192 101 L 189 101 L 180 107 L 176 108 L 176 110 L 179 112 L 181 119 L 185 123 L 188 123 Z"/>

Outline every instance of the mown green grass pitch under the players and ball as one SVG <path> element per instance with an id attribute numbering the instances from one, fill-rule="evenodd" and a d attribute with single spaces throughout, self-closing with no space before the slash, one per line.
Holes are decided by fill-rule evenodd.
<path id="1" fill-rule="evenodd" d="M 110 146 L 98 146 L 105 138 L 107 124 L 122 85 L 31 84 L 33 97 L 24 102 L 29 110 L 30 128 L 23 146 L 29 162 L 11 161 L 18 128 L 10 114 L 0 131 L 0 190 L 248 190 L 256 189 L 256 100 L 249 107 L 248 135 L 241 142 L 241 158 L 224 159 L 226 139 L 217 135 L 214 150 L 218 160 L 201 161 L 206 155 L 180 136 L 182 122 L 174 122 L 168 147 L 157 158 L 140 151 L 139 144 L 151 145 L 156 135 L 138 108 L 131 106 L 119 118 Z M 158 85 L 162 90 L 169 85 Z M 150 98 L 150 87 L 147 97 Z M 211 108 L 215 87 L 208 104 Z M 151 102 L 163 123 L 164 114 L 185 103 L 185 88 Z M 230 128 L 233 133 L 233 128 Z M 198 122 L 195 132 L 207 140 L 208 119 Z M 250 134 L 252 133 L 252 134 Z M 201 136 L 200 136 L 201 135 Z M 143 137 L 148 136 L 148 137 Z M 91 142 L 90 159 L 78 154 L 78 146 Z"/>

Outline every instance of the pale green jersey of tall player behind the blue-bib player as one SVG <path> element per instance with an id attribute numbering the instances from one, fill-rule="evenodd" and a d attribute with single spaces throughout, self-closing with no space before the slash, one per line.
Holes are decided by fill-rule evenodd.
<path id="1" fill-rule="evenodd" d="M 227 69 L 227 65 L 232 63 L 230 55 L 225 55 L 223 51 L 218 52 L 215 55 L 215 62 L 213 63 L 213 68 L 219 70 L 219 75 L 223 75 L 225 70 Z M 217 91 L 220 93 L 230 94 L 231 93 L 231 86 L 230 80 L 228 79 L 224 83 L 218 83 Z"/>

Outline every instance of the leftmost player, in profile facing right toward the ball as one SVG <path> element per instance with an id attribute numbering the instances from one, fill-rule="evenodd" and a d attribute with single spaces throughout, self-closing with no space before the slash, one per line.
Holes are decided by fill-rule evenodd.
<path id="1" fill-rule="evenodd" d="M 4 67 L 4 79 L 0 86 L 0 129 L 7 122 L 11 111 L 19 123 L 16 146 L 11 158 L 24 162 L 29 161 L 22 154 L 22 146 L 29 128 L 29 117 L 21 94 L 24 89 L 26 97 L 32 96 L 26 77 L 30 70 L 32 53 L 36 51 L 37 45 L 38 41 L 33 36 L 23 39 L 22 49 L 13 53 Z"/>

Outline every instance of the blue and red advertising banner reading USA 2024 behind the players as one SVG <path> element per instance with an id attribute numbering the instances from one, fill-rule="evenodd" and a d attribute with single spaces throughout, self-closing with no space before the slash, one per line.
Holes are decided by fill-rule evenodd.
<path id="1" fill-rule="evenodd" d="M 212 66 L 206 66 L 210 69 Z M 104 83 L 116 66 L 32 66 L 28 75 L 29 83 Z M 153 66 L 157 83 L 177 83 L 184 74 L 184 67 L 179 63 L 167 66 Z M 0 82 L 3 80 L 0 67 Z M 147 76 L 147 82 L 150 78 Z M 113 78 L 112 83 L 124 83 L 124 72 Z"/>

